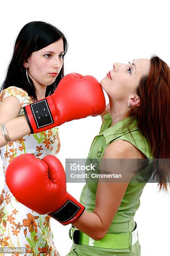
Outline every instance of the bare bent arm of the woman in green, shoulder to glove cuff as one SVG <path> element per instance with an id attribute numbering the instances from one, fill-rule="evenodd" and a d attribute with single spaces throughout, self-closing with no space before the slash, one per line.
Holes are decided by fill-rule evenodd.
<path id="1" fill-rule="evenodd" d="M 128 166 L 127 161 L 124 161 L 125 168 L 122 168 L 122 165 L 119 167 L 117 165 L 115 168 L 113 164 L 111 164 L 110 161 L 106 161 L 106 159 L 116 160 L 137 158 L 145 158 L 145 156 L 143 156 L 143 154 L 128 141 L 118 140 L 112 142 L 106 148 L 100 164 L 100 170 L 102 169 L 108 173 L 122 174 L 125 178 L 125 182 L 99 182 L 94 211 L 88 212 L 85 210 L 80 218 L 72 222 L 72 225 L 94 240 L 99 240 L 105 236 L 120 206 L 128 184 L 135 176 L 136 171 L 135 166 L 132 166 L 132 164 Z M 116 162 L 118 163 L 119 161 Z"/>

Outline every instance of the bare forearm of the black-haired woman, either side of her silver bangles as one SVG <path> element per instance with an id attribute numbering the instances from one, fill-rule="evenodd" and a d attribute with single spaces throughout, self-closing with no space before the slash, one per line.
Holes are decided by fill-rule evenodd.
<path id="1" fill-rule="evenodd" d="M 7 120 L 5 122 L 5 128 L 7 130 L 8 136 L 12 141 L 16 141 L 18 138 L 22 138 L 31 132 L 25 115 Z M 0 129 L 0 147 L 5 146 L 6 144 L 7 142 L 5 141 L 2 130 Z"/>

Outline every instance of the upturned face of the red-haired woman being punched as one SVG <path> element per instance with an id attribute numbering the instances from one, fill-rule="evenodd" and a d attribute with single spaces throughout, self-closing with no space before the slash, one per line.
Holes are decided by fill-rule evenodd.
<path id="1" fill-rule="evenodd" d="M 114 63 L 110 75 L 107 74 L 100 83 L 113 100 L 128 102 L 136 96 L 135 87 L 149 70 L 150 59 L 135 59 L 130 64 Z"/>

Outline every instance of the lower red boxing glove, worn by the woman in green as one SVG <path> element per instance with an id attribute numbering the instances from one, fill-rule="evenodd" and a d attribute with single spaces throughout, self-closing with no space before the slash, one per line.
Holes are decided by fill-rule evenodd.
<path id="1" fill-rule="evenodd" d="M 80 217 L 85 207 L 67 193 L 65 171 L 57 157 L 42 160 L 22 154 L 10 162 L 6 183 L 16 199 L 39 214 L 48 214 L 62 225 Z"/>

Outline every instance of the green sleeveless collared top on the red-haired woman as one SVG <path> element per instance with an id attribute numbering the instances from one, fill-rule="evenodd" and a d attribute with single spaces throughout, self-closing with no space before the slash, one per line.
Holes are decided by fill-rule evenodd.
<path id="1" fill-rule="evenodd" d="M 147 157 L 147 167 L 130 180 L 122 202 L 120 203 L 120 207 L 118 208 L 107 233 L 129 233 L 135 229 L 134 216 L 136 210 L 138 210 L 140 206 L 140 196 L 147 180 L 152 176 L 151 165 L 153 156 L 151 156 L 148 141 L 138 128 L 137 120 L 135 119 L 131 125 L 128 125 L 128 128 L 121 129 L 129 119 L 130 118 L 125 118 L 110 127 L 112 123 L 110 113 L 105 115 L 100 133 L 95 136 L 87 157 L 88 163 L 89 161 L 94 161 L 94 159 L 97 160 L 99 163 L 97 169 L 100 173 L 100 162 L 103 158 L 105 149 L 110 143 L 117 140 L 129 141 Z M 95 208 L 96 190 L 97 181 L 87 182 L 82 189 L 80 203 L 85 206 L 87 211 L 93 212 Z"/>

